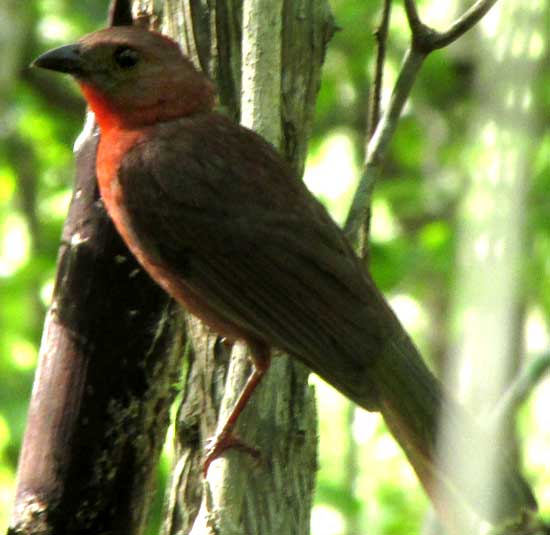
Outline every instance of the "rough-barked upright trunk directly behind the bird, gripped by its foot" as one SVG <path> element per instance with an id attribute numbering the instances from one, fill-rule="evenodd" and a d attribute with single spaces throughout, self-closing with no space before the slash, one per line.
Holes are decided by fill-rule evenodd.
<path id="1" fill-rule="evenodd" d="M 325 47 L 333 26 L 324 0 L 165 0 L 164 25 L 216 82 L 222 107 L 262 134 L 301 175 Z M 194 351 L 178 411 L 165 535 L 309 533 L 316 472 L 316 409 L 307 370 L 277 356 L 239 419 L 258 448 L 215 461 L 200 480 L 205 440 L 250 372 L 246 348 L 229 350 L 189 319 Z M 213 386 L 211 386 L 213 385 Z M 221 407 L 221 409 L 220 409 Z"/>

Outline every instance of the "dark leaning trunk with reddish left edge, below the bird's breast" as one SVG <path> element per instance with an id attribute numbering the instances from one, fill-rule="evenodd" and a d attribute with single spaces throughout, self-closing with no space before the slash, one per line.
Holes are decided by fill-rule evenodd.
<path id="1" fill-rule="evenodd" d="M 115 22 L 131 21 L 125 5 Z M 107 217 L 95 177 L 99 134 L 88 119 L 19 461 L 13 535 L 142 533 L 179 376 L 179 308 Z"/>

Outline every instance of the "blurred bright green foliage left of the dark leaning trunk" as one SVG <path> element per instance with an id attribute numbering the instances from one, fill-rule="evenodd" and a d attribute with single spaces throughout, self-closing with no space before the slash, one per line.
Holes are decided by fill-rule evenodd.
<path id="1" fill-rule="evenodd" d="M 67 20 L 75 36 L 92 29 L 91 11 L 78 4 L 12 3 L 16 12 L 11 14 L 21 21 L 25 46 L 16 47 L 13 76 L 0 85 L 0 94 L 7 96 L 7 104 L 0 106 L 0 531 L 12 506 L 15 468 L 72 181 L 71 146 L 84 109 L 80 106 L 75 113 L 73 108 L 51 105 L 51 95 L 41 90 L 39 78 L 29 76 L 27 66 L 38 53 L 57 44 L 48 36 L 55 34 L 57 22 L 67 13 L 72 13 Z M 87 4 L 95 4 L 96 12 L 104 9 L 98 2 Z M 101 19 L 96 20 L 99 24 Z M 76 101 L 73 88 L 67 94 Z"/>

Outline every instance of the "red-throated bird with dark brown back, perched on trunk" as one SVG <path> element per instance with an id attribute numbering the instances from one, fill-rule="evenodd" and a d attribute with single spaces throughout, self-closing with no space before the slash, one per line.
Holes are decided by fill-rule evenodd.
<path id="1" fill-rule="evenodd" d="M 216 111 L 212 82 L 177 43 L 112 27 L 33 65 L 80 86 L 101 132 L 103 203 L 144 270 L 214 332 L 249 348 L 252 372 L 207 447 L 203 475 L 242 445 L 235 423 L 277 348 L 382 412 L 421 460 L 428 492 L 433 478 L 446 481 L 436 466 L 441 385 L 325 207 L 271 144 Z M 536 507 L 516 470 L 506 478 L 511 503 Z"/>

